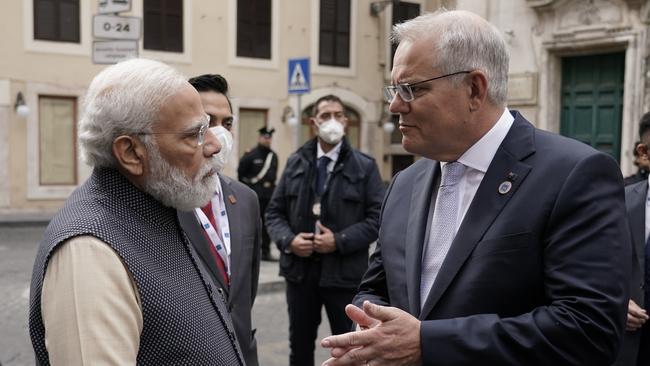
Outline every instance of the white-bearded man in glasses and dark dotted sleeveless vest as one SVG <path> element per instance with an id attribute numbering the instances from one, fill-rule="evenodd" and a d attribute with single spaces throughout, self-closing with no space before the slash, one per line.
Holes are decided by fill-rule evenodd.
<path id="1" fill-rule="evenodd" d="M 150 60 L 92 81 L 79 143 L 93 173 L 45 231 L 29 328 L 40 365 L 243 365 L 227 305 L 176 210 L 220 169 L 199 94 Z"/>

